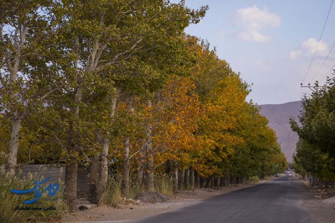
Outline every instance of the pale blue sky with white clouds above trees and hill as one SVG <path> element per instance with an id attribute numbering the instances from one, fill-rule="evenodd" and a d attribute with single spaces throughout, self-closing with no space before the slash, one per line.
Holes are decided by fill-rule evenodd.
<path id="1" fill-rule="evenodd" d="M 220 59 L 253 84 L 247 100 L 259 105 L 298 101 L 311 93 L 300 83 L 314 86 L 318 80 L 323 86 L 332 76 L 335 3 L 319 42 L 332 0 L 186 0 L 185 4 L 194 9 L 209 6 L 204 19 L 185 32 L 207 39 Z"/>

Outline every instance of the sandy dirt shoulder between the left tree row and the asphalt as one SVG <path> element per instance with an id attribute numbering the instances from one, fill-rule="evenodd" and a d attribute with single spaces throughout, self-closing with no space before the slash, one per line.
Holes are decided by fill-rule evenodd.
<path id="1" fill-rule="evenodd" d="M 169 202 L 164 203 L 138 203 L 136 201 L 126 201 L 125 204 L 120 204 L 119 208 L 112 207 L 97 207 L 87 211 L 78 211 L 71 214 L 66 214 L 62 217 L 61 222 L 80 222 L 80 223 L 119 223 L 136 218 L 150 216 L 175 208 L 181 208 L 195 204 L 204 199 L 226 194 L 232 191 L 241 190 L 248 187 L 253 187 L 273 180 L 274 177 L 267 180 L 259 181 L 258 183 L 247 183 L 238 185 L 228 185 L 219 189 L 196 189 L 193 191 L 179 191 L 174 196 L 169 196 Z"/>

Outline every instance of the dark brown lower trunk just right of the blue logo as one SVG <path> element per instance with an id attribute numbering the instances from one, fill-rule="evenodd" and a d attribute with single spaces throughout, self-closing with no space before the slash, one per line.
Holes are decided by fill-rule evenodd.
<path id="1" fill-rule="evenodd" d="M 76 163 L 66 165 L 64 194 L 70 212 L 77 209 L 77 171 Z"/>

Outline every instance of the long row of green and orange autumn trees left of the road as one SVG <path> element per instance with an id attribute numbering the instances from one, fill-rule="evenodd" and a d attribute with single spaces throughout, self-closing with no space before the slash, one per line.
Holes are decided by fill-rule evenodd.
<path id="1" fill-rule="evenodd" d="M 209 43 L 184 33 L 208 6 L 28 0 L 0 8 L 0 146 L 9 177 L 20 164 L 63 163 L 73 211 L 78 164 L 91 167 L 93 203 L 111 162 L 122 166 L 124 196 L 144 174 L 153 191 L 164 166 L 175 192 L 184 188 L 178 172 L 195 187 L 200 177 L 214 184 L 286 168 L 267 119 L 246 101 L 250 86 Z"/>

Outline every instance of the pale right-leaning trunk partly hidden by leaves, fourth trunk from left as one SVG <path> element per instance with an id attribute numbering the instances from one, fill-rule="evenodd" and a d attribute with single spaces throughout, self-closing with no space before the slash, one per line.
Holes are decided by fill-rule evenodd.
<path id="1" fill-rule="evenodd" d="M 110 118 L 114 117 L 115 107 L 116 107 L 116 100 L 119 96 L 119 93 L 120 93 L 120 89 L 118 89 L 115 92 L 116 95 L 111 100 L 110 111 L 109 111 L 109 117 Z M 108 177 L 108 159 L 107 159 L 107 156 L 108 156 L 108 150 L 109 150 L 109 136 L 106 135 L 105 139 L 104 139 L 103 151 L 100 155 L 100 158 L 101 158 L 100 171 L 101 171 L 101 173 L 100 173 L 100 181 L 99 181 L 98 186 L 97 186 L 97 193 L 98 193 L 99 199 L 101 198 L 101 196 L 105 192 L 106 185 L 107 185 L 107 177 Z"/>

